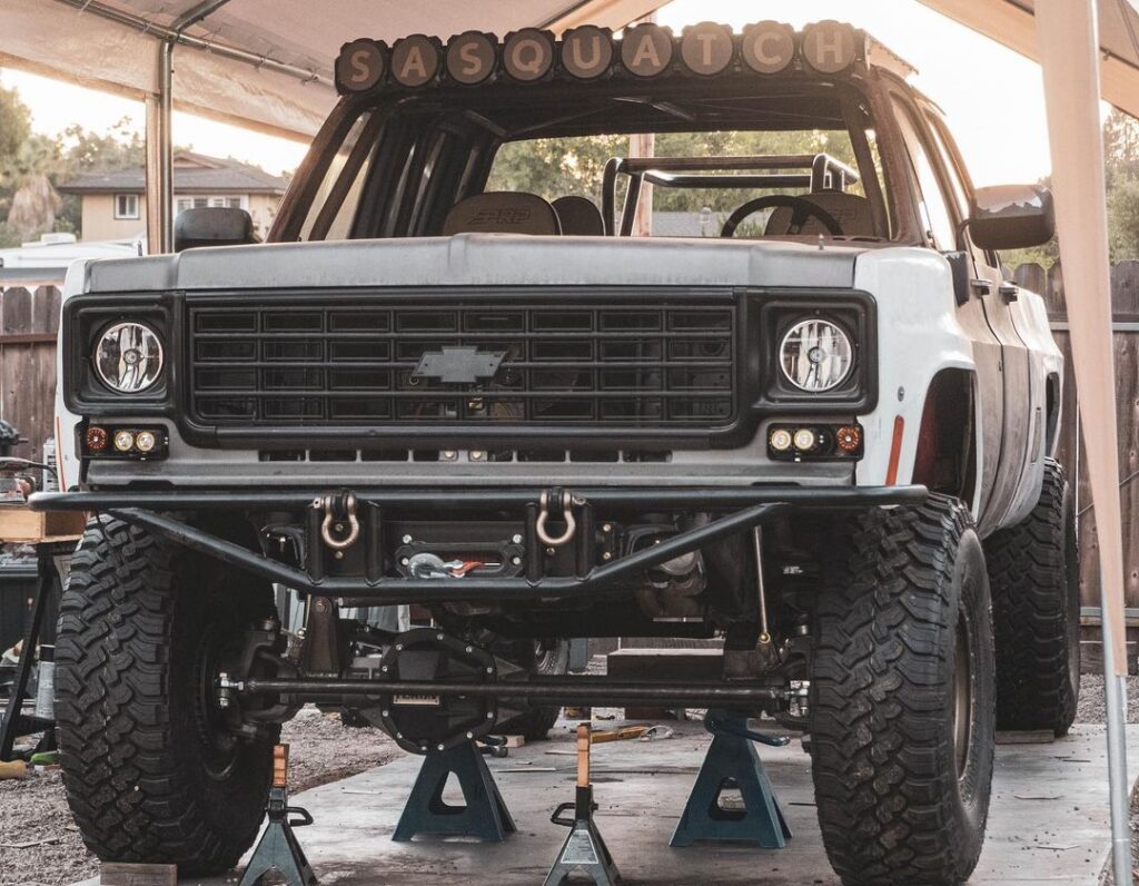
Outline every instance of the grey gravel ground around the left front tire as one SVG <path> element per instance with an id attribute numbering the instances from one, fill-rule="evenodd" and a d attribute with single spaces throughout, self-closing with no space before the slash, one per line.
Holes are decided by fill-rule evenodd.
<path id="1" fill-rule="evenodd" d="M 377 729 L 344 729 L 306 708 L 285 725 L 293 792 L 382 766 L 402 756 Z M 33 844 L 33 845 L 27 845 Z M 0 886 L 65 886 L 93 877 L 98 862 L 72 823 L 59 772 L 0 781 Z"/>

